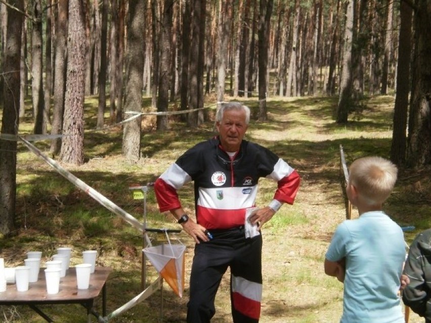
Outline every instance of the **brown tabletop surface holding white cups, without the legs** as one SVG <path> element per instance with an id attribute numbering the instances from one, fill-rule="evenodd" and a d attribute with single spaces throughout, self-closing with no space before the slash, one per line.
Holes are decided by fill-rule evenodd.
<path id="1" fill-rule="evenodd" d="M 15 284 L 8 284 L 7 290 L 0 293 L 0 304 L 79 303 L 82 300 L 91 300 L 99 296 L 112 268 L 96 267 L 90 276 L 89 289 L 78 290 L 76 270 L 74 267 L 70 267 L 67 269 L 66 276 L 60 278 L 59 292 L 54 295 L 47 294 L 44 270 L 45 268 L 40 268 L 38 281 L 29 283 L 26 292 L 17 292 Z"/>

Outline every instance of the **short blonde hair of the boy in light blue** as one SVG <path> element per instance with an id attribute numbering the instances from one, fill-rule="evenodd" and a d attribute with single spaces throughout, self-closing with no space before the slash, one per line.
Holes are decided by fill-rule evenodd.
<path id="1" fill-rule="evenodd" d="M 397 181 L 397 166 L 381 157 L 363 157 L 350 166 L 349 183 L 368 205 L 383 203 Z"/>

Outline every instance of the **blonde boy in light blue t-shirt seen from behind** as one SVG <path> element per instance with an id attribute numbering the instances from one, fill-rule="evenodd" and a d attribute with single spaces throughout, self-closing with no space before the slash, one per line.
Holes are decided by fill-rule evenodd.
<path id="1" fill-rule="evenodd" d="M 401 227 L 382 211 L 397 180 L 397 167 L 381 157 L 354 161 L 346 188 L 359 218 L 335 230 L 325 273 L 344 284 L 341 323 L 404 323 L 400 277 L 406 257 Z"/>

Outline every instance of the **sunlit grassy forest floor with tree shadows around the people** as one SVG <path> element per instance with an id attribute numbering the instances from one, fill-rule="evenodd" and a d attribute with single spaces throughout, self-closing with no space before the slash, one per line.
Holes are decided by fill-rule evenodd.
<path id="1" fill-rule="evenodd" d="M 257 111 L 256 101 L 245 101 L 252 108 L 253 114 Z M 336 104 L 333 98 L 272 99 L 267 103 L 269 120 L 265 123 L 253 120 L 250 123 L 246 139 L 276 152 L 297 169 L 302 179 L 294 205 L 284 205 L 263 229 L 264 289 L 261 322 L 339 321 L 342 312 L 342 284 L 324 274 L 323 261 L 334 229 L 347 214 L 346 200 L 342 193 L 340 146 L 348 166 L 362 156 L 379 155 L 387 158 L 391 147 L 393 102 L 394 98 L 390 96 L 371 98 L 366 102 L 365 109 L 350 116 L 348 124 L 337 125 L 332 118 Z M 94 113 L 92 116 L 94 117 Z M 63 166 L 128 212 L 142 214 L 141 202 L 124 198 L 130 194 L 127 192 L 127 183 L 153 181 L 188 147 L 213 134 L 211 122 L 197 130 L 187 130 L 178 119 L 171 121 L 176 122 L 171 122 L 171 128 L 163 134 L 151 130 L 154 119 L 143 121 L 143 158 L 138 162 L 124 161 L 121 157 L 121 131 L 118 130 L 112 137 L 107 132 L 89 134 L 84 146 L 84 151 L 91 147 L 87 150 L 88 161 L 80 167 Z M 94 119 L 87 120 L 86 124 L 91 126 Z M 38 147 L 46 151 L 49 146 L 40 144 Z M 419 230 L 431 226 L 430 174 L 429 167 L 400 169 L 396 189 L 385 204 L 385 211 L 401 226 L 416 227 L 412 232 L 405 233 L 407 243 L 412 241 Z M 62 186 L 67 187 L 66 193 Z M 260 187 L 257 204 L 266 205 L 272 199 L 274 183 L 262 180 Z M 40 192 L 42 188 L 44 191 Z M 192 190 L 193 187 L 189 186 L 180 193 L 186 211 L 191 214 Z M 36 156 L 29 154 L 25 148 L 20 148 L 18 157 L 18 192 L 20 228 L 8 240 L 0 240 L 2 256 L 8 265 L 18 265 L 22 262 L 25 250 L 31 248 L 44 248 L 47 257 L 59 244 L 72 246 L 76 251 L 97 248 L 98 265 L 113 268 L 107 282 L 108 313 L 139 293 L 139 233 L 133 232 L 119 218 L 109 215 L 109 224 L 106 225 L 113 226 L 121 234 L 109 231 L 111 227 L 109 232 L 99 228 L 101 233 L 98 234 L 95 222 L 101 221 L 110 213 L 104 213 L 103 208 L 91 198 L 73 186 L 68 186 L 61 176 Z M 73 212 L 68 211 L 70 208 Z M 160 217 L 151 192 L 147 208 L 151 224 L 177 227 L 170 217 Z M 88 220 L 82 215 L 85 209 L 91 215 Z M 24 213 L 25 221 L 22 215 Z M 68 213 L 73 214 L 70 219 L 67 218 Z M 355 208 L 351 216 L 357 217 Z M 53 225 L 56 227 L 53 228 Z M 93 231 L 88 226 L 94 227 Z M 184 297 L 179 298 L 164 284 L 163 302 L 160 292 L 156 292 L 110 321 L 155 323 L 160 321 L 161 306 L 163 322 L 185 321 L 193 241 L 183 233 L 179 238 L 187 247 Z M 77 262 L 79 254 L 75 253 L 72 263 Z M 156 274 L 150 263 L 148 268 L 151 281 Z M 63 310 L 59 311 L 57 306 L 46 310 L 64 323 L 82 321 L 77 318 L 79 307 L 71 311 L 70 305 L 59 306 Z M 96 306 L 101 306 L 100 299 Z M 215 306 L 213 323 L 232 321 L 228 273 L 220 286 Z M 404 306 L 400 306 L 400 311 L 404 310 Z M 2 311 L 6 321 L 45 321 L 24 306 L 15 307 L 13 312 L 2 306 L 0 314 Z M 410 313 L 409 322 L 419 323 L 423 319 Z"/>

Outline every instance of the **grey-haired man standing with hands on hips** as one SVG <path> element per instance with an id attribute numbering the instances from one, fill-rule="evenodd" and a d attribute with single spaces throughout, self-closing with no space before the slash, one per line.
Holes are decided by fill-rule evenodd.
<path id="1" fill-rule="evenodd" d="M 298 173 L 270 150 L 243 140 L 250 109 L 238 102 L 216 115 L 218 136 L 187 150 L 154 184 L 160 212 L 169 211 L 196 242 L 190 275 L 188 323 L 210 322 L 228 268 L 234 323 L 256 323 L 262 299 L 262 226 L 284 203 L 293 204 Z M 257 208 L 257 183 L 277 182 L 274 199 Z M 194 182 L 196 220 L 177 190 Z"/>

